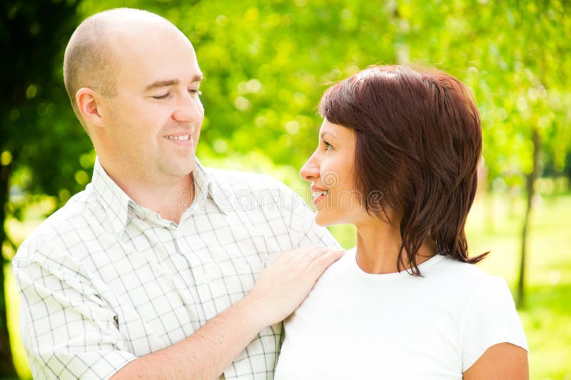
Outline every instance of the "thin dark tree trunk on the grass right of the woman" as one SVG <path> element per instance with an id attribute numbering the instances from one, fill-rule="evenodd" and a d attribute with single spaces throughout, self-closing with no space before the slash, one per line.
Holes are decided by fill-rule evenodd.
<path id="1" fill-rule="evenodd" d="M 525 306 L 525 261 L 527 259 L 527 232 L 529 231 L 530 214 L 532 210 L 532 199 L 534 196 L 533 184 L 537 179 L 537 174 L 540 166 L 540 135 L 537 128 L 532 132 L 533 140 L 533 166 L 531 173 L 527 176 L 527 204 L 525 209 L 525 217 L 523 219 L 522 227 L 522 242 L 521 242 L 521 261 L 520 261 L 520 279 L 517 282 L 517 307 Z"/>

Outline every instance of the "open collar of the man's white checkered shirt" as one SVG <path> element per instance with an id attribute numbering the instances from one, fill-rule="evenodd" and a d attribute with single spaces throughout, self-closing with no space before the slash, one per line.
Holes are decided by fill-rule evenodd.
<path id="1" fill-rule="evenodd" d="M 213 200 L 219 211 L 226 214 L 221 200 L 216 196 L 217 191 L 221 189 L 219 184 L 208 174 L 208 171 L 206 171 L 200 161 L 198 161 L 198 158 L 195 157 L 194 160 L 193 179 L 195 183 L 195 199 L 192 206 L 185 211 L 183 217 L 186 216 L 187 213 L 191 213 L 195 205 L 203 206 L 206 204 L 207 197 Z M 91 185 L 93 186 L 94 194 L 96 194 L 98 199 L 102 202 L 111 228 L 116 234 L 122 234 L 127 225 L 129 206 L 134 209 L 145 209 L 136 204 L 115 181 L 108 176 L 103 166 L 101 166 L 98 157 L 95 159 Z"/>

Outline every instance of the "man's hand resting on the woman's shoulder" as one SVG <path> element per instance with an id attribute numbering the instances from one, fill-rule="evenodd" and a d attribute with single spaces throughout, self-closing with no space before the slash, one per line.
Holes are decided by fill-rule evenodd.
<path id="1" fill-rule="evenodd" d="M 283 252 L 258 276 L 243 304 L 254 311 L 253 316 L 263 326 L 281 322 L 303 302 L 323 271 L 343 254 L 339 249 L 319 246 Z"/>

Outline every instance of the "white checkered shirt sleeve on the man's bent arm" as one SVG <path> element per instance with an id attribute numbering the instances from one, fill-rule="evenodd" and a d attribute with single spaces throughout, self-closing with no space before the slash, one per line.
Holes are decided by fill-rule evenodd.
<path id="1" fill-rule="evenodd" d="M 108 379 L 136 359 L 118 331 L 116 314 L 71 255 L 26 241 L 13 266 L 34 379 Z"/>

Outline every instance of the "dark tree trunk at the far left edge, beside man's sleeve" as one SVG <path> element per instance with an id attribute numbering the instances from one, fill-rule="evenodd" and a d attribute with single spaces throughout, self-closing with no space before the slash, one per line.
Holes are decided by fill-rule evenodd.
<path id="1" fill-rule="evenodd" d="M 8 332 L 8 314 L 6 313 L 6 294 L 4 291 L 4 256 L 1 246 L 6 240 L 4 231 L 4 221 L 6 221 L 6 204 L 8 201 L 9 179 L 11 165 L 1 166 L 0 164 L 0 378 L 17 378 L 18 374 L 14 368 L 12 351 L 10 349 L 10 334 Z"/>

